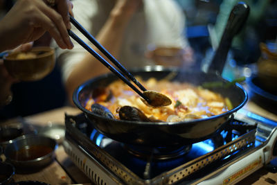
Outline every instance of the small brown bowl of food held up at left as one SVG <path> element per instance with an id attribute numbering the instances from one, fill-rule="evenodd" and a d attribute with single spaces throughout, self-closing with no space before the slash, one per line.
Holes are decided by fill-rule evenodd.
<path id="1" fill-rule="evenodd" d="M 27 53 L 9 53 L 3 60 L 13 78 L 21 81 L 41 80 L 55 67 L 55 51 L 50 47 L 34 47 Z"/>

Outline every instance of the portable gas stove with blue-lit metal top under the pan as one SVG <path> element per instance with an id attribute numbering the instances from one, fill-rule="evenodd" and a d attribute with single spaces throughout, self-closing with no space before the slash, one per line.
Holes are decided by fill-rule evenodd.
<path id="1" fill-rule="evenodd" d="M 277 157 L 277 123 L 240 109 L 211 139 L 137 148 L 66 115 L 64 150 L 95 184 L 234 184 Z"/>

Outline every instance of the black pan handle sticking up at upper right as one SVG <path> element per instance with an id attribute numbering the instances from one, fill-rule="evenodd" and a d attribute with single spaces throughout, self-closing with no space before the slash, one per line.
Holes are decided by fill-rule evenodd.
<path id="1" fill-rule="evenodd" d="M 238 2 L 233 7 L 208 72 L 213 71 L 217 73 L 217 75 L 222 75 L 226 57 L 232 44 L 232 39 L 244 26 L 249 15 L 249 11 L 249 6 L 244 2 Z"/>

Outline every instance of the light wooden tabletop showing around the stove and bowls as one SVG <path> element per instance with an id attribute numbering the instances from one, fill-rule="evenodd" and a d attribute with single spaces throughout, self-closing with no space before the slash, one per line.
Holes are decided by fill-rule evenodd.
<path id="1" fill-rule="evenodd" d="M 249 109 L 251 112 L 260 114 L 267 118 L 271 118 L 277 121 L 276 114 L 272 114 L 265 109 L 262 109 L 253 102 L 247 103 L 244 108 Z M 55 124 L 64 125 L 64 113 L 75 115 L 80 113 L 80 110 L 74 107 L 62 107 L 59 109 L 53 109 L 48 112 L 43 112 L 40 114 L 35 114 L 24 118 L 28 123 L 32 123 L 36 126 L 43 126 L 51 121 Z M 17 119 L 9 120 L 8 122 L 15 122 Z M 59 146 L 56 150 L 56 159 L 53 163 L 46 168 L 38 171 L 36 173 L 31 173 L 28 175 L 16 174 L 13 179 L 15 182 L 25 181 L 25 180 L 36 180 L 40 182 L 46 182 L 48 184 L 91 184 L 91 181 L 87 176 L 82 173 L 75 164 L 69 159 L 69 157 L 64 152 L 64 148 Z M 253 175 L 242 180 L 239 184 L 270 184 L 271 179 L 277 183 L 277 175 L 274 173 L 269 173 L 265 168 L 262 168 Z"/>

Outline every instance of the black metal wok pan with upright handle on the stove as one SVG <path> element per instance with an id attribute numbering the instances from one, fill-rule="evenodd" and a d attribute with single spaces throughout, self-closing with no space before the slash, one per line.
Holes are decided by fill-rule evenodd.
<path id="1" fill-rule="evenodd" d="M 208 73 L 202 71 L 179 71 L 176 68 L 145 67 L 143 69 L 133 69 L 130 72 L 134 76 L 141 76 L 143 80 L 148 78 L 165 78 L 169 73 L 175 72 L 172 80 L 179 82 L 190 82 L 193 85 L 202 85 L 203 82 L 228 82 L 221 77 L 226 55 L 231 45 L 233 35 L 238 33 L 249 14 L 249 7 L 244 3 L 235 6 L 229 17 L 228 24 L 224 30 L 220 46 L 215 53 L 215 57 Z M 235 84 L 231 87 L 215 88 L 212 91 L 222 94 L 229 98 L 233 104 L 233 109 L 209 118 L 201 118 L 193 121 L 181 121 L 176 123 L 146 123 L 135 121 L 120 121 L 111 118 L 105 118 L 84 108 L 87 99 L 91 96 L 91 92 L 96 87 L 107 87 L 109 83 L 118 80 L 114 74 L 109 73 L 104 76 L 93 78 L 80 85 L 73 94 L 73 102 L 84 112 L 89 123 L 93 125 L 100 133 L 105 136 L 136 146 L 180 146 L 190 145 L 198 141 L 208 139 L 219 132 L 224 123 L 229 121 L 233 114 L 247 103 L 247 92 L 239 85 Z"/>

